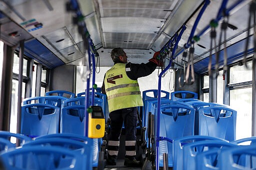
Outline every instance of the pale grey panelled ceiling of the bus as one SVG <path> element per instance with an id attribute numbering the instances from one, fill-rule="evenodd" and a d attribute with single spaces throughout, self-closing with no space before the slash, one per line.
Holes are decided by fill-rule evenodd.
<path id="1" fill-rule="evenodd" d="M 227 7 L 237 0 L 229 0 Z M 246 37 L 248 6 L 243 0 L 229 12 L 227 46 Z M 87 53 L 83 39 L 73 24 L 74 14 L 66 10 L 66 0 L 0 0 L 1 39 L 11 46 L 25 40 L 25 54 L 48 68 L 62 64 L 84 65 Z M 146 62 L 186 22 L 186 30 L 178 44 L 181 50 L 187 42 L 196 8 L 203 0 L 78 0 L 86 27 L 99 53 L 100 66 L 112 66 L 112 48 L 124 48 L 128 60 Z M 216 17 L 222 0 L 211 0 L 203 13 L 195 34 Z M 200 8 L 199 8 L 200 9 Z M 192 15 L 193 14 L 193 15 Z M 191 17 L 190 17 L 191 16 Z M 189 18 L 187 20 L 187 18 Z M 220 25 L 221 21 L 219 22 Z M 216 29 L 219 38 L 220 26 Z M 220 45 L 222 48 L 222 42 Z M 199 45 L 200 46 L 199 46 Z M 209 30 L 195 43 L 194 63 L 197 72 L 207 67 L 202 62 L 209 56 Z M 181 56 L 174 61 L 181 65 Z M 200 63 L 201 62 L 201 63 Z"/>

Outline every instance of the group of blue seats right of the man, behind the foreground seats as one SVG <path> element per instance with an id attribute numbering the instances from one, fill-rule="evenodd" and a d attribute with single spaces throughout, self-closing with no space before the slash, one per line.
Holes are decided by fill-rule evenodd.
<path id="1" fill-rule="evenodd" d="M 155 92 L 155 90 L 152 91 Z M 155 148 L 155 141 L 159 140 L 159 167 L 163 167 L 162 154 L 164 153 L 168 154 L 168 167 L 173 167 L 172 140 L 194 135 L 210 136 L 227 141 L 235 140 L 236 111 L 228 106 L 185 98 L 185 91 L 181 92 L 181 98 L 176 101 L 168 99 L 168 93 L 162 91 L 166 95 L 161 95 L 163 97 L 158 106 L 155 98 L 157 95 L 149 97 L 146 95 L 147 92 L 149 91 L 143 92 L 145 141 L 148 148 Z M 157 115 L 158 107 L 160 107 L 159 115 Z M 154 126 L 153 130 L 150 125 Z M 159 136 L 156 136 L 157 131 Z"/>

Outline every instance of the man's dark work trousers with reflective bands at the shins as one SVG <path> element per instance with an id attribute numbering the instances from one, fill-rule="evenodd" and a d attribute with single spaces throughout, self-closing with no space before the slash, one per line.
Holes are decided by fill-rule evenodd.
<path id="1" fill-rule="evenodd" d="M 133 159 L 136 156 L 136 125 L 137 109 L 125 108 L 110 112 L 110 134 L 108 138 L 108 157 L 116 159 L 119 150 L 119 138 L 122 125 L 125 129 L 125 158 Z"/>

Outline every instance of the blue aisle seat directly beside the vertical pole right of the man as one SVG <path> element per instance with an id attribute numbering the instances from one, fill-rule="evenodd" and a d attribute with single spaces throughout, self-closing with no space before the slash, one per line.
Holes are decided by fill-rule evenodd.
<path id="1" fill-rule="evenodd" d="M 194 109 L 180 104 L 161 106 L 159 137 L 175 140 L 194 134 Z M 155 120 L 156 120 L 155 119 Z M 172 143 L 159 141 L 159 167 L 163 167 L 164 153 L 168 154 L 168 167 L 173 167 Z"/>

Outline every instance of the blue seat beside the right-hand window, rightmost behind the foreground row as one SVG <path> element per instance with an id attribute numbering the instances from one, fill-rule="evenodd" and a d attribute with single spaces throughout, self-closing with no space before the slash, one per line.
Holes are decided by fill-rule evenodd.
<path id="1" fill-rule="evenodd" d="M 236 111 L 222 106 L 198 109 L 198 135 L 235 140 Z"/>

